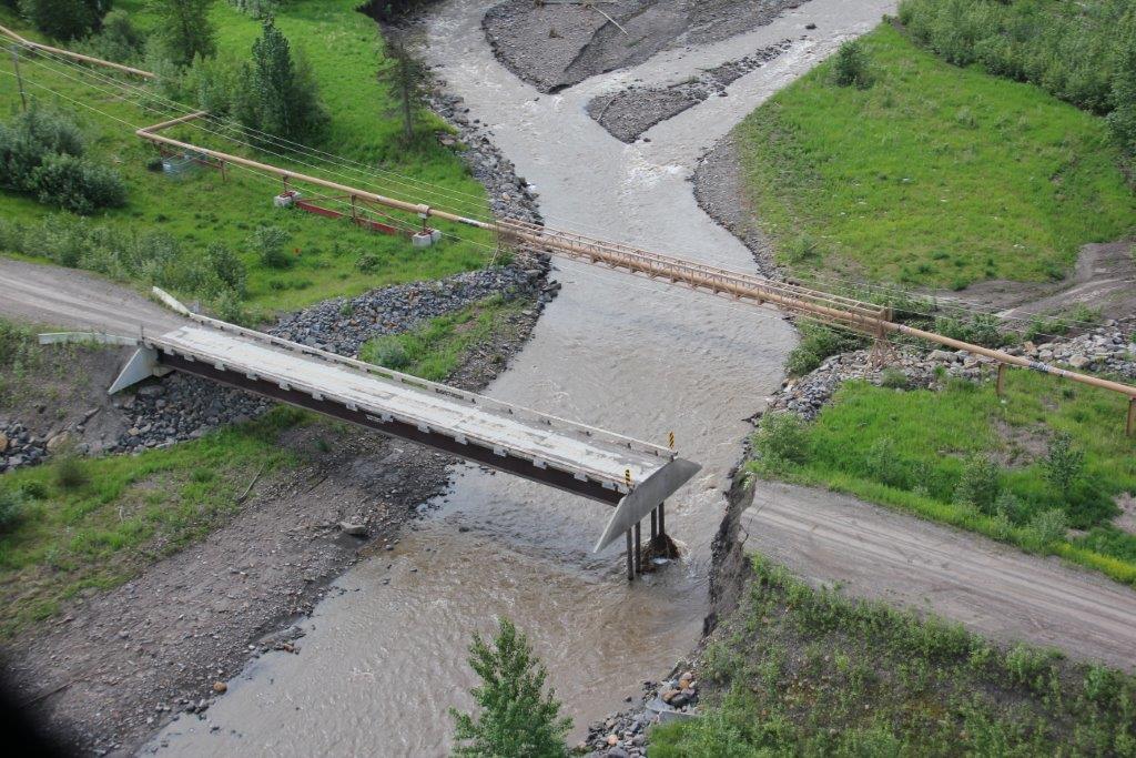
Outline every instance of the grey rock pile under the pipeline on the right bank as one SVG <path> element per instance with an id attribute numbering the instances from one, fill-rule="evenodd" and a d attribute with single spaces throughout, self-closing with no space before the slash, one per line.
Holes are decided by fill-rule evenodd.
<path id="1" fill-rule="evenodd" d="M 1042 363 L 1136 378 L 1136 317 L 1109 320 L 1069 339 L 1058 339 L 1041 345 L 1026 342 L 1021 347 L 1005 348 L 1005 351 Z M 996 364 L 993 360 L 964 350 L 922 352 L 902 347 L 883 366 L 874 364 L 869 350 L 857 350 L 826 358 L 812 373 L 786 380 L 780 391 L 769 399 L 768 408 L 788 410 L 812 419 L 828 402 L 836 388 L 849 380 L 863 380 L 880 385 L 902 378 L 902 383 L 910 388 L 935 389 L 947 377 L 977 382 L 995 370 Z"/>

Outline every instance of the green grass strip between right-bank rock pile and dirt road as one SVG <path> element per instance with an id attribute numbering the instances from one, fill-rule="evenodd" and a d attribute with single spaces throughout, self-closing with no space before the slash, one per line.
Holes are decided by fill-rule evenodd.
<path id="1" fill-rule="evenodd" d="M 1136 535 L 1110 525 L 1112 499 L 1136 492 L 1136 439 L 1125 436 L 1127 401 L 1113 392 L 1011 372 L 1005 398 L 993 383 L 949 382 L 939 391 L 889 390 L 849 382 L 788 448 L 758 435 L 751 470 L 847 492 L 1043 553 L 1058 553 L 1136 585 Z M 1069 497 L 1050 486 L 1039 459 L 1058 433 L 1085 452 L 1085 472 Z M 786 435 L 779 440 L 784 442 Z M 1013 513 L 955 502 L 966 459 L 1000 465 L 995 486 L 1017 499 Z M 993 493 L 992 493 L 993 494 Z M 1039 542 L 1030 524 L 1058 509 L 1081 538 Z"/>

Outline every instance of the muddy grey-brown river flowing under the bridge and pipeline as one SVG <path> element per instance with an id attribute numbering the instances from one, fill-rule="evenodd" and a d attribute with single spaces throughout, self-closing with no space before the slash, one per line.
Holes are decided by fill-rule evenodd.
<path id="1" fill-rule="evenodd" d="M 536 185 L 552 226 L 753 270 L 749 251 L 696 206 L 698 158 L 746 113 L 892 3 L 812 0 L 768 26 L 634 69 L 538 95 L 494 59 L 483 2 L 453 0 L 429 23 L 432 63 L 470 118 Z M 808 22 L 818 24 L 801 39 Z M 782 39 L 778 59 L 624 144 L 585 113 L 596 93 L 632 78 L 674 82 Z M 620 547 L 591 547 L 610 509 L 506 475 L 462 466 L 436 509 L 341 577 L 343 593 L 304 622 L 300 655 L 274 652 L 229 682 L 204 720 L 182 718 L 151 748 L 182 755 L 443 755 L 451 706 L 469 707 L 474 631 L 498 615 L 525 630 L 576 722 L 587 723 L 666 674 L 698 640 L 710 541 L 727 475 L 750 426 L 780 382 L 794 332 L 779 315 L 582 264 L 533 339 L 487 393 L 542 411 L 665 443 L 703 470 L 668 502 L 683 559 L 628 583 Z"/>

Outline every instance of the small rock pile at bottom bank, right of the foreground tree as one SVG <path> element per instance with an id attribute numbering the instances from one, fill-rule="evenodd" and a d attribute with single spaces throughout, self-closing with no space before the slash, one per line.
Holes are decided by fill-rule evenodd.
<path id="1" fill-rule="evenodd" d="M 578 751 L 592 758 L 645 756 L 648 730 L 676 718 L 696 718 L 698 701 L 699 683 L 693 670 L 662 682 L 644 682 L 640 705 L 590 724 Z"/>

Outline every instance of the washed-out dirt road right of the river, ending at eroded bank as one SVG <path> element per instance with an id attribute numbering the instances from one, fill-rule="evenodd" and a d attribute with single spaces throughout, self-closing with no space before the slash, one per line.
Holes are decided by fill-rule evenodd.
<path id="1" fill-rule="evenodd" d="M 1103 576 L 833 492 L 758 482 L 753 500 L 746 548 L 811 582 L 1136 670 L 1136 592 Z"/>

